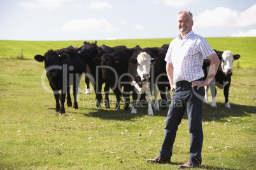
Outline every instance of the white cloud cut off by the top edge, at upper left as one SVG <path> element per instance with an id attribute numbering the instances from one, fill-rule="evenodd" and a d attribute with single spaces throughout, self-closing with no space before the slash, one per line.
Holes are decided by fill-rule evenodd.
<path id="1" fill-rule="evenodd" d="M 72 2 L 73 0 L 37 0 L 36 3 L 19 3 L 20 6 L 24 6 L 28 9 L 34 8 L 48 8 L 52 10 L 53 8 L 59 8 L 63 6 L 63 3 Z"/>

